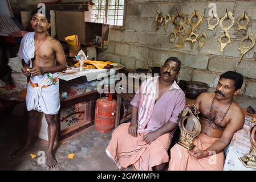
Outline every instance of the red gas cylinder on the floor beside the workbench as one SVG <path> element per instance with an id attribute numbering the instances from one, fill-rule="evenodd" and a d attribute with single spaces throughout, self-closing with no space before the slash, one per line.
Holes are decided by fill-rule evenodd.
<path id="1" fill-rule="evenodd" d="M 113 95 L 101 97 L 95 106 L 95 127 L 101 133 L 108 133 L 115 127 L 116 100 Z"/>

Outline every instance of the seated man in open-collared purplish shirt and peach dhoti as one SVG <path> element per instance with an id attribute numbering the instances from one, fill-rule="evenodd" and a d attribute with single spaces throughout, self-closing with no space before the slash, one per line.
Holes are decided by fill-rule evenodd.
<path id="1" fill-rule="evenodd" d="M 177 127 L 178 114 L 185 107 L 184 92 L 176 78 L 181 61 L 169 57 L 160 77 L 148 78 L 131 101 L 131 123 L 113 131 L 106 149 L 118 169 L 162 170 L 169 161 L 168 148 Z"/>

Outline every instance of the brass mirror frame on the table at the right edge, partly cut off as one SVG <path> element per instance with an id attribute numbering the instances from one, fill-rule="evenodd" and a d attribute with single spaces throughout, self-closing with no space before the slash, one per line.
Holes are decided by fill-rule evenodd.
<path id="1" fill-rule="evenodd" d="M 251 148 L 249 154 L 242 156 L 239 158 L 243 165 L 248 168 L 256 169 L 256 125 L 251 127 L 250 129 L 250 141 Z"/>

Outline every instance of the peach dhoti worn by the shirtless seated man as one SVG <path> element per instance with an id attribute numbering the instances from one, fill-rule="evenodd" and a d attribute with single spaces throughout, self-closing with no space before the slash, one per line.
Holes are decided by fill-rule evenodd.
<path id="1" fill-rule="evenodd" d="M 196 145 L 194 150 L 206 150 L 219 138 L 208 137 L 200 133 L 194 138 L 193 143 Z M 170 150 L 170 171 L 219 171 L 223 170 L 224 152 L 210 155 L 207 158 L 195 159 L 189 154 L 184 147 L 175 144 Z"/>

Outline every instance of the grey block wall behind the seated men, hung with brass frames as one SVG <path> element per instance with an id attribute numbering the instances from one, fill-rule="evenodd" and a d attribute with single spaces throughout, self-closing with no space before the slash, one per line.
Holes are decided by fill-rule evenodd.
<path id="1" fill-rule="evenodd" d="M 227 44 L 224 52 L 220 52 L 218 38 L 223 34 L 218 25 L 214 31 L 207 30 L 209 3 L 216 3 L 217 14 L 221 19 L 226 14 L 226 9 L 233 12 L 234 26 L 230 29 L 232 42 Z M 253 32 L 256 38 L 256 1 L 127 1 L 127 10 L 123 30 L 111 29 L 109 34 L 109 48 L 98 54 L 99 59 L 109 59 L 125 65 L 125 67 L 148 68 L 149 66 L 161 66 L 169 56 L 177 56 L 182 61 L 180 80 L 194 80 L 206 82 L 210 88 L 214 88 L 221 73 L 234 71 L 235 64 L 240 57 L 239 42 L 237 36 L 237 18 L 246 13 L 251 16 L 251 25 L 247 28 L 246 35 Z M 156 10 L 166 14 L 177 14 L 176 9 L 182 10 L 189 16 L 196 9 L 204 18 L 197 34 L 206 32 L 208 41 L 198 50 L 197 43 L 190 49 L 190 44 L 185 42 L 185 48 L 174 48 L 169 43 L 168 35 L 173 26 L 169 23 L 164 30 L 164 23 L 159 31 L 155 31 Z M 176 38 L 177 41 L 177 38 Z M 243 107 L 253 106 L 256 109 L 256 46 L 243 56 L 238 65 L 237 72 L 242 73 L 245 82 L 242 93 L 235 100 Z"/>

